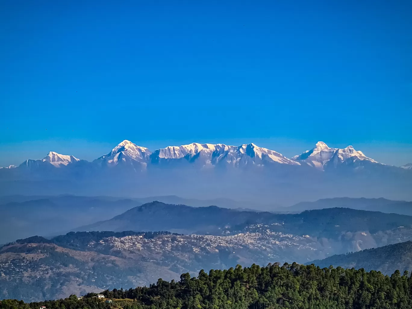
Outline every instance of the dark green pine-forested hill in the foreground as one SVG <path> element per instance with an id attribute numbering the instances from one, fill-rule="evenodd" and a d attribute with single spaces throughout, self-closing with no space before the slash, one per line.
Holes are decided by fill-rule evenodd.
<path id="1" fill-rule="evenodd" d="M 0 309 L 380 309 L 412 308 L 412 278 L 399 271 L 389 276 L 364 269 L 319 268 L 314 265 L 252 265 L 228 270 L 201 270 L 199 276 L 182 274 L 180 281 L 149 287 L 105 290 L 110 301 L 88 294 L 25 304 L 3 300 Z"/>

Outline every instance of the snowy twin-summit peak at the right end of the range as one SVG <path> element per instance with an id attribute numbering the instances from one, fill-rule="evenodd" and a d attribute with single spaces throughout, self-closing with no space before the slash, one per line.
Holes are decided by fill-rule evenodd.
<path id="1" fill-rule="evenodd" d="M 351 145 L 346 148 L 332 148 L 320 141 L 316 143 L 313 149 L 306 150 L 302 155 L 296 155 L 292 159 L 306 162 L 320 170 L 324 170 L 325 165 L 329 162 L 333 162 L 336 165 L 346 162 L 346 160 L 349 159 L 352 160 L 352 162 L 359 159 L 378 163 L 366 157 L 363 152 L 355 150 Z"/>

